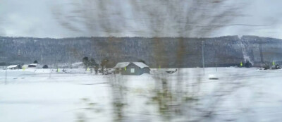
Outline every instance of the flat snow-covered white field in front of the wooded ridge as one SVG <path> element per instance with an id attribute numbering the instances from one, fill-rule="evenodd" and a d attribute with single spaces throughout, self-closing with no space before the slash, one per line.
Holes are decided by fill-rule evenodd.
<path id="1" fill-rule="evenodd" d="M 0 121 L 282 120 L 281 70 L 153 69 L 138 76 L 50 71 L 8 70 L 5 83 L 0 70 Z"/>

